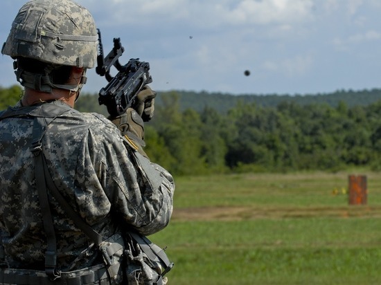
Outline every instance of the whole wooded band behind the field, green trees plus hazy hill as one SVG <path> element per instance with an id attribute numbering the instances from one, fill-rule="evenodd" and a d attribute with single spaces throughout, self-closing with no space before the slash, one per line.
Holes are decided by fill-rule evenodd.
<path id="1" fill-rule="evenodd" d="M 0 109 L 22 89 L 0 88 Z M 103 113 L 98 95 L 76 109 Z M 316 95 L 158 92 L 145 124 L 150 159 L 177 175 L 381 169 L 381 90 Z"/>

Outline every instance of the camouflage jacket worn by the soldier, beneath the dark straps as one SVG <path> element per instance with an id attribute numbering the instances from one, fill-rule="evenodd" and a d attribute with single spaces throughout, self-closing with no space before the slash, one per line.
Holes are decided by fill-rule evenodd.
<path id="1" fill-rule="evenodd" d="M 43 113 L 52 104 L 64 103 L 10 109 Z M 172 176 L 130 147 L 104 116 L 67 109 L 42 138 L 49 172 L 62 196 L 103 237 L 126 227 L 143 235 L 165 228 L 172 214 Z M 43 270 L 46 236 L 30 151 L 32 131 L 30 116 L 0 120 L 0 233 L 9 267 Z M 51 195 L 49 201 L 61 269 L 101 263 L 94 244 Z"/>

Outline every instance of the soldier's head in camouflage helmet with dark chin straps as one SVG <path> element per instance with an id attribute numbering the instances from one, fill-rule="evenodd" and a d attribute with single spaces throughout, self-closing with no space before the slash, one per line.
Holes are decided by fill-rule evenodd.
<path id="1" fill-rule="evenodd" d="M 19 10 L 1 53 L 15 59 L 17 80 L 26 88 L 79 93 L 86 69 L 96 64 L 97 43 L 86 8 L 71 0 L 32 0 Z M 82 71 L 75 83 L 69 80 L 73 68 Z"/>

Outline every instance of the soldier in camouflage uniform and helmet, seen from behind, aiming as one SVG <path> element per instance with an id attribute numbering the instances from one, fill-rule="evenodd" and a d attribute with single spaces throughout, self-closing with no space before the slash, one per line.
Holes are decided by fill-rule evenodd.
<path id="1" fill-rule="evenodd" d="M 142 149 L 142 117 L 152 118 L 156 93 L 145 86 L 134 108 L 116 118 L 73 109 L 96 63 L 97 40 L 82 6 L 33 0 L 1 50 L 15 59 L 24 95 L 0 113 L 0 284 L 126 284 L 121 268 L 105 266 L 123 250 L 105 258 L 55 188 L 107 244 L 126 230 L 151 235 L 170 221 L 174 181 Z"/>

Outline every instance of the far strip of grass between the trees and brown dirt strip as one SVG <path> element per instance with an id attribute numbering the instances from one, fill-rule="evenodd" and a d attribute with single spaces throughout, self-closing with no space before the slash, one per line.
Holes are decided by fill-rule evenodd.
<path id="1" fill-rule="evenodd" d="M 369 199 L 381 205 L 381 178 L 365 174 Z M 348 174 L 253 174 L 181 177 L 175 206 L 216 205 L 346 205 L 347 197 L 333 197 L 335 188 L 348 187 Z"/>

